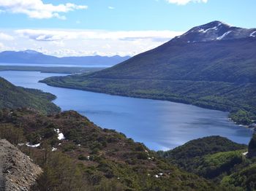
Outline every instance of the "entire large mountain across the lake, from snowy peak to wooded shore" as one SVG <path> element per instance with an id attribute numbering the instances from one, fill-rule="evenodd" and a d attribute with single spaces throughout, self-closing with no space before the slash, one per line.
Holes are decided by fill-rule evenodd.
<path id="1" fill-rule="evenodd" d="M 255 31 L 214 21 L 109 69 L 42 82 L 219 109 L 249 125 L 256 120 Z"/>

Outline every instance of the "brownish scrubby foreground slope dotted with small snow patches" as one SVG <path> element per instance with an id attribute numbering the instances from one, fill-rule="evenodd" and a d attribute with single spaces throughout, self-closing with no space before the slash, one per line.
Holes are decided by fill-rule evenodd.
<path id="1" fill-rule="evenodd" d="M 34 190 L 217 190 L 146 146 L 77 112 L 5 111 L 0 136 L 42 166 Z"/>

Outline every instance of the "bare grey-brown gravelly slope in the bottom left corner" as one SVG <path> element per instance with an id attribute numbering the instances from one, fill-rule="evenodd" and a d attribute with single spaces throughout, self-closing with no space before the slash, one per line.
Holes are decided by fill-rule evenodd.
<path id="1" fill-rule="evenodd" d="M 42 169 L 5 139 L 0 140 L 0 191 L 29 190 Z"/>

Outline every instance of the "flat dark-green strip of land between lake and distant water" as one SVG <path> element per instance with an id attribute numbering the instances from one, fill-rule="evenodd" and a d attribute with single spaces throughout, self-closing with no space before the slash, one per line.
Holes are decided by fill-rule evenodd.
<path id="1" fill-rule="evenodd" d="M 80 74 L 99 71 L 98 67 L 45 67 L 45 66 L 0 66 L 0 71 L 40 71 L 43 73 Z"/>

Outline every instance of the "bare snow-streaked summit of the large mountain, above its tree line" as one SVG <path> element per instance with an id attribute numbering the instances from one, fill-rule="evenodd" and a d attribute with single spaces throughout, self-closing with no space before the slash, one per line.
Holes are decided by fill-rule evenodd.
<path id="1" fill-rule="evenodd" d="M 239 28 L 229 26 L 220 21 L 213 21 L 203 26 L 195 26 L 181 36 L 176 36 L 173 41 L 184 41 L 187 43 L 208 42 L 217 40 L 255 38 L 256 28 Z"/>

